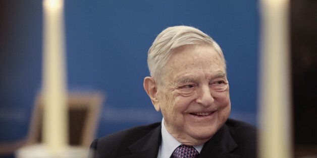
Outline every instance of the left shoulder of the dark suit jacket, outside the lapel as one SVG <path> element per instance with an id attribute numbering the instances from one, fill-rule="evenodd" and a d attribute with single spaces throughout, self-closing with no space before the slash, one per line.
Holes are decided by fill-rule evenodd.
<path id="1" fill-rule="evenodd" d="M 128 155 L 130 154 L 129 145 L 160 125 L 161 122 L 156 122 L 137 126 L 95 139 L 90 145 L 91 152 L 94 152 L 94 157 L 104 157 L 106 155 L 108 157 L 116 157 L 117 153 Z"/>

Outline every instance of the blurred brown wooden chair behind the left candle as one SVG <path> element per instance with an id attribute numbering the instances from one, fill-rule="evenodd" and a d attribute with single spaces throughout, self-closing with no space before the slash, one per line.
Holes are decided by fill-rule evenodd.
<path id="1" fill-rule="evenodd" d="M 104 101 L 101 93 L 71 93 L 68 96 L 68 142 L 72 146 L 87 149 L 96 133 L 100 108 Z M 0 154 L 13 153 L 16 149 L 42 142 L 43 99 L 35 99 L 32 118 L 26 139 L 12 143 L 0 143 Z M 35 145 L 36 148 L 44 148 Z M 28 147 L 27 147 L 28 148 Z"/>

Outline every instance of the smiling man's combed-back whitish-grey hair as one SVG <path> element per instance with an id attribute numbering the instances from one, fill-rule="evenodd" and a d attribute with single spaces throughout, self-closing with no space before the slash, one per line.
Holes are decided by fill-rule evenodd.
<path id="1" fill-rule="evenodd" d="M 157 35 L 147 53 L 147 65 L 150 75 L 157 78 L 162 68 L 168 62 L 173 49 L 189 44 L 211 45 L 219 54 L 226 69 L 224 54 L 211 37 L 202 31 L 190 26 L 168 27 Z"/>

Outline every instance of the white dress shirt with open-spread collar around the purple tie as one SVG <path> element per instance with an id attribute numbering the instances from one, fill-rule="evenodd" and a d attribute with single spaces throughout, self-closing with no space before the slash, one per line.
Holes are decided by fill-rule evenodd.
<path id="1" fill-rule="evenodd" d="M 164 118 L 162 119 L 162 143 L 158 149 L 157 158 L 169 158 L 171 157 L 174 150 L 182 143 L 177 141 L 167 130 L 164 125 Z M 194 146 L 195 149 L 200 153 L 203 144 Z"/>

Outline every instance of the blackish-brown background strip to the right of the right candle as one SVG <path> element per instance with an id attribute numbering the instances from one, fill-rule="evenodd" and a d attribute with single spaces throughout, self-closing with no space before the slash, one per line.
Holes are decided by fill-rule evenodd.
<path id="1" fill-rule="evenodd" d="M 317 157 L 317 1 L 291 0 L 295 157 Z"/>

